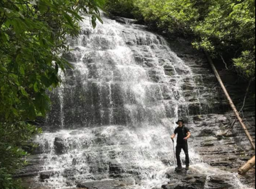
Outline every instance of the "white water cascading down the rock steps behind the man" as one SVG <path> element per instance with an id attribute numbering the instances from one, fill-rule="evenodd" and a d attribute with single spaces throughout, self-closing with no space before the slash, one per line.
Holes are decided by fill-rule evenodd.
<path id="1" fill-rule="evenodd" d="M 65 57 L 74 69 L 51 93 L 48 132 L 35 139 L 42 174 L 34 179 L 41 183 L 46 173 L 40 185 L 72 188 L 129 178 L 127 188 L 161 188 L 169 181 L 166 171 L 174 167 L 170 135 L 175 121 L 197 113 L 191 104 L 200 114 L 211 111 L 211 103 L 162 37 L 135 24 L 103 21 L 93 30 L 85 20 L 79 38 L 70 40 L 74 51 Z M 187 88 L 192 92 L 186 94 Z M 192 167 L 242 188 L 235 174 L 206 166 L 194 145 L 189 146 Z"/>

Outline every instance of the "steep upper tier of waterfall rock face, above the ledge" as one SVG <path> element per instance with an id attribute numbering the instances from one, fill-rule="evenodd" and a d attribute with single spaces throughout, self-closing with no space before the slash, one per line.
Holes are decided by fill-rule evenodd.
<path id="1" fill-rule="evenodd" d="M 163 37 L 132 20 L 118 20 L 126 24 L 116 30 L 84 27 L 74 41 L 75 50 L 65 58 L 75 69 L 68 70 L 65 85 L 50 94 L 46 129 L 157 124 L 166 113 L 168 118 L 177 116 L 177 105 L 178 116 L 222 112 L 221 96 L 212 88 L 215 78 L 202 54 L 175 54 L 177 42 L 171 42 L 170 49 Z"/>

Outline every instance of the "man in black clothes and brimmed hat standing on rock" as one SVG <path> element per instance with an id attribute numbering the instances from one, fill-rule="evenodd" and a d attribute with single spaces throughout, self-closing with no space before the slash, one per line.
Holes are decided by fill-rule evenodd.
<path id="1" fill-rule="evenodd" d="M 171 136 L 172 141 L 174 141 L 175 136 L 178 134 L 176 146 L 176 158 L 178 167 L 176 170 L 178 171 L 182 169 L 180 160 L 181 149 L 183 149 L 186 155 L 186 170 L 189 170 L 188 138 L 191 136 L 191 133 L 189 129 L 184 126 L 184 121 L 182 119 L 179 119 L 176 124 L 179 125 L 179 127 L 174 130 L 174 134 Z"/>

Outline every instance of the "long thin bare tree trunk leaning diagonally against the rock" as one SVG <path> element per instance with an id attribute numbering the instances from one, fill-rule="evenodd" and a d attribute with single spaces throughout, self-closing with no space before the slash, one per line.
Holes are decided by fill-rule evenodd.
<path id="1" fill-rule="evenodd" d="M 211 59 L 209 53 L 205 52 L 205 54 L 206 54 L 206 56 L 207 56 L 207 59 L 208 59 L 209 63 L 211 64 L 211 67 L 212 67 L 212 70 L 213 70 L 215 76 L 217 77 L 217 79 L 218 79 L 218 81 L 219 81 L 219 83 L 220 83 L 220 85 L 221 85 L 221 88 L 222 88 L 223 92 L 225 93 L 226 97 L 228 98 L 228 102 L 229 102 L 231 108 L 233 109 L 237 120 L 239 121 L 239 123 L 240 123 L 241 126 L 243 127 L 244 132 L 245 132 L 247 138 L 249 139 L 249 141 L 250 141 L 250 143 L 251 143 L 251 145 L 252 145 L 252 147 L 253 147 L 253 150 L 255 151 L 255 144 L 254 144 L 254 142 L 253 142 L 253 139 L 252 139 L 252 137 L 251 137 L 251 135 L 250 135 L 248 129 L 246 128 L 246 126 L 245 126 L 245 124 L 244 124 L 242 118 L 239 116 L 239 112 L 237 111 L 235 104 L 233 103 L 233 101 L 232 101 L 230 95 L 228 94 L 228 91 L 227 91 L 225 85 L 223 84 L 223 82 L 222 82 L 222 80 L 221 80 L 221 78 L 220 78 L 220 75 L 219 75 L 217 69 L 215 68 L 215 65 L 213 64 L 213 61 L 212 61 L 212 59 Z"/>

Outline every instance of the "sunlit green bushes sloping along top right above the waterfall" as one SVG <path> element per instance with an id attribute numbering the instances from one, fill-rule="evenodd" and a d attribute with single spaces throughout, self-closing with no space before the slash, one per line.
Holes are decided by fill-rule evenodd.
<path id="1" fill-rule="evenodd" d="M 225 60 L 246 79 L 255 77 L 254 0 L 107 0 L 107 5 L 110 12 L 133 14 L 170 36 L 190 37 L 198 50 Z"/>

